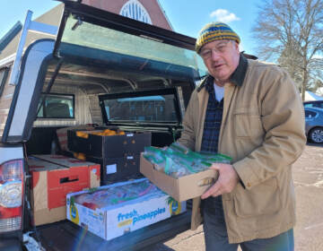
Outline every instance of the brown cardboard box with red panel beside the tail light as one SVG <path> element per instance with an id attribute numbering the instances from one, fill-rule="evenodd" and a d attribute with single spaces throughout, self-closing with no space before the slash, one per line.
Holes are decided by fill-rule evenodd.
<path id="1" fill-rule="evenodd" d="M 34 225 L 65 220 L 68 193 L 100 186 L 100 165 L 87 163 L 66 168 L 47 160 L 28 159 Z"/>

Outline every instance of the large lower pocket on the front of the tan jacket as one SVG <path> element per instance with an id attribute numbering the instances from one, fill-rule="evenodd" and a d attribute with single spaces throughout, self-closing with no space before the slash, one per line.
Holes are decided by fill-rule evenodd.
<path id="1" fill-rule="evenodd" d="M 282 203 L 276 177 L 272 177 L 250 190 L 237 186 L 233 202 L 234 210 L 241 218 L 278 212 Z"/>

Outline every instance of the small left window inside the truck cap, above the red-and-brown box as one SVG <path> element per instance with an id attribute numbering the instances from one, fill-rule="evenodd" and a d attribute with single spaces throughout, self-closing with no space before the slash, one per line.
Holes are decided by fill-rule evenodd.
<path id="1" fill-rule="evenodd" d="M 39 112 L 37 117 L 73 118 L 74 95 L 48 94 L 45 97 L 45 95 L 42 94 L 39 100 Z"/>

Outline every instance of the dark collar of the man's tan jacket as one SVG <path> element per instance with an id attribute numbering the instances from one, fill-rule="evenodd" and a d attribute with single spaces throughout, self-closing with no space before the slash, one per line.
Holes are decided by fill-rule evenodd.
<path id="1" fill-rule="evenodd" d="M 244 57 L 242 54 L 240 54 L 239 58 L 239 65 L 231 74 L 230 76 L 230 82 L 237 86 L 242 86 L 242 83 L 246 77 L 248 69 L 248 60 L 246 57 Z M 210 74 L 207 74 L 204 81 L 198 86 L 197 92 L 201 91 L 207 84 L 213 84 L 214 82 L 214 77 L 211 76 Z"/>

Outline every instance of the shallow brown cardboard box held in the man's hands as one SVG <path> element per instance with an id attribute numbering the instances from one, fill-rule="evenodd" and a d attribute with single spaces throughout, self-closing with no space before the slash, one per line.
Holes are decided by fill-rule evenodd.
<path id="1" fill-rule="evenodd" d="M 152 181 L 155 186 L 179 202 L 203 195 L 218 177 L 218 172 L 214 169 L 206 169 L 205 171 L 179 178 L 171 177 L 162 171 L 154 169 L 153 164 L 144 159 L 143 154 L 140 157 L 140 172 Z"/>

